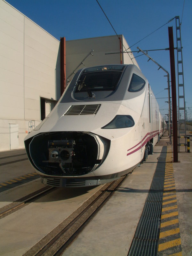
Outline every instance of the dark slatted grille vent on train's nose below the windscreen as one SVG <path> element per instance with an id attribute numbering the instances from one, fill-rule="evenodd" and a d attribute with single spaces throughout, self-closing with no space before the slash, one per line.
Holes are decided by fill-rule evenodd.
<path id="1" fill-rule="evenodd" d="M 72 105 L 64 115 L 96 115 L 101 104 L 97 105 Z"/>

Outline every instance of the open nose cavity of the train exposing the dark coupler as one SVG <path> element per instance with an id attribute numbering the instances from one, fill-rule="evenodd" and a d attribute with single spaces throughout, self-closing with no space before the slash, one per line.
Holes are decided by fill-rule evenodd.
<path id="1" fill-rule="evenodd" d="M 32 164 L 42 174 L 81 176 L 102 164 L 110 140 L 89 132 L 50 132 L 34 136 L 28 147 Z"/>

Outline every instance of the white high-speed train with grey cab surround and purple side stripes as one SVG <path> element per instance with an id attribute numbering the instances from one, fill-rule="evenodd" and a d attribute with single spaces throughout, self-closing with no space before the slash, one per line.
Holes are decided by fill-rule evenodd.
<path id="1" fill-rule="evenodd" d="M 52 112 L 25 139 L 44 184 L 100 185 L 131 172 L 166 129 L 135 65 L 79 70 Z"/>

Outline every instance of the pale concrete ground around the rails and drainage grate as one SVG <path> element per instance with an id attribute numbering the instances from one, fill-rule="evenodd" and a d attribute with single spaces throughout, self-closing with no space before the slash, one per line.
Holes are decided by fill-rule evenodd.
<path id="1" fill-rule="evenodd" d="M 191 139 L 192 137 L 190 137 L 190 144 L 192 145 Z M 154 154 L 148 156 L 147 162 L 140 167 L 136 167 L 132 174 L 128 175 L 114 195 L 62 255 L 124 256 L 128 254 L 148 195 L 158 157 L 162 147 L 167 146 L 167 141 L 168 136 L 165 134 L 154 147 Z M 190 152 L 191 150 L 192 147 Z M 10 154 L 10 152 L 6 152 L 6 155 Z M 5 154 L 5 152 L 1 154 Z M 182 255 L 191 256 L 192 155 L 191 153 L 180 152 L 178 158 L 180 162 L 173 163 L 173 171 L 179 212 Z M 26 166 L 27 170 L 29 168 L 29 166 Z M 10 175 L 15 176 L 15 173 L 11 173 L 8 169 L 7 172 L 9 177 Z M 5 177 L 3 176 L 2 179 L 4 180 Z M 38 182 L 41 184 L 38 179 L 30 182 L 31 189 L 34 189 L 34 184 L 38 186 Z M 10 191 L 2 192 L 0 194 L 1 207 L 4 204 L 11 203 L 12 199 L 16 200 L 18 195 L 21 196 L 20 193 L 25 190 L 25 187 L 30 190 L 30 185 L 24 184 L 10 189 Z M 43 184 L 40 185 L 40 187 L 42 186 Z M 1 255 L 22 255 L 57 226 L 65 216 L 67 217 L 70 212 L 73 212 L 76 207 L 81 205 L 87 198 L 86 194 L 94 194 L 97 188 L 82 194 L 74 191 L 74 195 L 67 195 L 63 193 L 64 190 L 60 188 L 52 194 L 51 198 L 45 196 L 0 221 Z M 38 212 L 36 206 L 38 206 Z M 179 256 L 181 254 L 176 255 Z"/>

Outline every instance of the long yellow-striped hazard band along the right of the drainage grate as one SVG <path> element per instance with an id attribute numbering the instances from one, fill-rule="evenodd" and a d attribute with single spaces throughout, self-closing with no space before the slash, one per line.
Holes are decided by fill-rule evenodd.
<path id="1" fill-rule="evenodd" d="M 167 151 L 158 252 L 167 256 L 182 256 L 171 148 Z"/>

